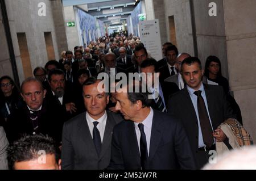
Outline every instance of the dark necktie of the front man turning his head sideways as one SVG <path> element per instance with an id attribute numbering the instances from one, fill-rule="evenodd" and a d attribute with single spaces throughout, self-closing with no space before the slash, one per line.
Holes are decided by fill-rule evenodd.
<path id="1" fill-rule="evenodd" d="M 144 125 L 142 123 L 138 124 L 139 131 L 141 131 L 141 140 L 140 142 L 140 148 L 141 148 L 141 168 L 142 170 L 146 169 L 147 164 L 147 140 L 146 140 L 146 134 L 144 133 Z"/>

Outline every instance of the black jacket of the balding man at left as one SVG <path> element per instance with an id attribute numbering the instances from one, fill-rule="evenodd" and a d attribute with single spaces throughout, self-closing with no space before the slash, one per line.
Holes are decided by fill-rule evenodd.
<path id="1" fill-rule="evenodd" d="M 60 144 L 61 129 L 62 129 L 63 115 L 57 109 L 55 104 L 44 99 L 42 110 L 38 116 L 39 133 L 48 135 Z M 15 112 L 11 113 L 7 119 L 6 134 L 9 142 L 18 140 L 23 134 L 30 134 L 34 132 L 32 121 L 30 119 L 30 111 L 27 104 L 23 103 Z"/>

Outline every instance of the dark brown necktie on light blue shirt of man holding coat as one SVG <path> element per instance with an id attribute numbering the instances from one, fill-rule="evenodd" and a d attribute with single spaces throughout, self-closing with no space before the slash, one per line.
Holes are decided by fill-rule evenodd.
<path id="1" fill-rule="evenodd" d="M 204 144 L 210 148 L 213 145 L 212 127 L 210 126 L 210 119 L 208 117 L 207 108 L 204 104 L 204 99 L 201 96 L 202 91 L 195 91 L 194 94 L 197 96 L 197 111 L 199 114 L 199 120 L 201 125 L 201 131 L 203 134 Z"/>

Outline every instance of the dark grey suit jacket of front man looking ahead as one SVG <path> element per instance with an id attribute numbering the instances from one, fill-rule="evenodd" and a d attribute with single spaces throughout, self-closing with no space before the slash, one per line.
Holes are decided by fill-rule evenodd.
<path id="1" fill-rule="evenodd" d="M 107 111 L 106 128 L 100 156 L 98 156 L 89 127 L 86 112 L 67 121 L 63 126 L 61 167 L 62 169 L 105 169 L 110 162 L 110 145 L 114 125 L 121 116 Z"/>

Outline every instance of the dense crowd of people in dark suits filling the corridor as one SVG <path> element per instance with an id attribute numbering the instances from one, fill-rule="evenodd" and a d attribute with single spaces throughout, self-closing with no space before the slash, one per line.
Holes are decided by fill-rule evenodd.
<path id="1" fill-rule="evenodd" d="M 226 139 L 218 126 L 237 119 L 222 87 L 202 82 L 199 58 L 179 54 L 171 43 L 163 44 L 159 61 L 132 36 L 101 37 L 74 50 L 36 68 L 20 87 L 22 104 L 1 121 L 11 169 L 34 158 L 15 151 L 33 140 L 24 134 L 53 138 L 58 151 L 47 154 L 61 151 L 61 169 L 200 169 L 209 150 Z M 122 86 L 116 79 L 115 92 L 100 91 L 97 75 L 111 76 L 112 70 L 150 75 L 150 91 L 142 91 L 141 79 Z"/>

